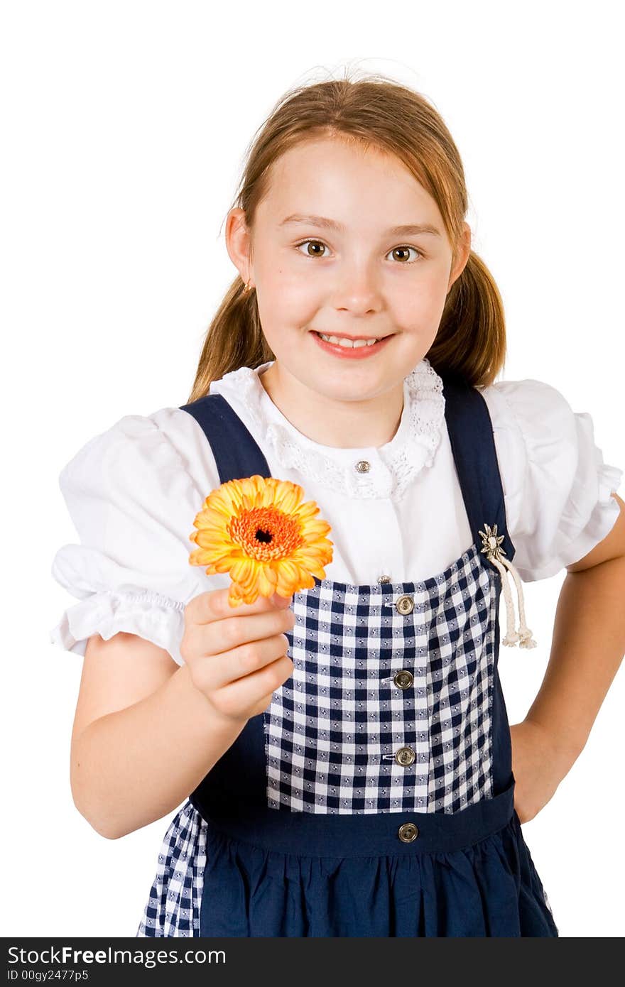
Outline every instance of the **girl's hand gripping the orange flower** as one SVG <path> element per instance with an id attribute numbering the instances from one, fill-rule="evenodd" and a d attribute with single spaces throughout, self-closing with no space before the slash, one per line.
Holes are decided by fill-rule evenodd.
<path id="1" fill-rule="evenodd" d="M 244 725 L 268 708 L 293 671 L 283 634 L 295 623 L 288 599 L 259 596 L 236 609 L 229 587 L 199 593 L 185 607 L 181 655 L 214 712 Z"/>

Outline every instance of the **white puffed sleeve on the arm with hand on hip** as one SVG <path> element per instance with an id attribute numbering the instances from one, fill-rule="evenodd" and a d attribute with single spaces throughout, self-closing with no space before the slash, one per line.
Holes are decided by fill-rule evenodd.
<path id="1" fill-rule="evenodd" d="M 579 562 L 613 527 L 623 471 L 603 462 L 592 419 L 543 381 L 481 388 L 493 424 L 513 565 L 525 582 Z"/>

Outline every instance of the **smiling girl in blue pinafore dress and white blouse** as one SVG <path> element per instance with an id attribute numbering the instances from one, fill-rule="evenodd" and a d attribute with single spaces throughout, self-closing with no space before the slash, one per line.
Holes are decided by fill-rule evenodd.
<path id="1" fill-rule="evenodd" d="M 420 95 L 380 76 L 287 94 L 237 201 L 240 276 L 189 403 L 121 418 L 60 475 L 75 803 L 117 838 L 184 802 L 138 936 L 558 936 L 520 827 L 622 656 L 622 471 L 554 388 L 494 383 L 501 297 Z M 190 532 L 256 474 L 317 501 L 334 559 L 232 610 Z M 520 580 L 563 568 L 548 675 L 510 727 L 501 594 L 502 643 L 534 647 Z"/>

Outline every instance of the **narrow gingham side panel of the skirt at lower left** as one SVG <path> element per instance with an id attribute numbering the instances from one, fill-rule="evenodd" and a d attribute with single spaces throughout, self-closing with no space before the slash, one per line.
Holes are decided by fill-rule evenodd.
<path id="1" fill-rule="evenodd" d="M 172 819 L 136 936 L 199 936 L 207 825 L 191 801 Z"/>

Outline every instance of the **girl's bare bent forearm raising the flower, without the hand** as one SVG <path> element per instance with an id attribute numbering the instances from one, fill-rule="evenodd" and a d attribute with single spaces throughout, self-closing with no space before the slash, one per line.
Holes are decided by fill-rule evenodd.
<path id="1" fill-rule="evenodd" d="M 167 651 L 132 634 L 95 635 L 71 742 L 76 807 L 109 839 L 140 829 L 180 805 L 244 725 L 220 718 Z"/>

